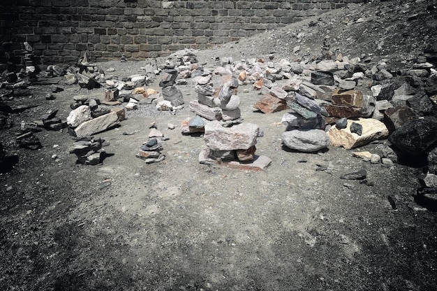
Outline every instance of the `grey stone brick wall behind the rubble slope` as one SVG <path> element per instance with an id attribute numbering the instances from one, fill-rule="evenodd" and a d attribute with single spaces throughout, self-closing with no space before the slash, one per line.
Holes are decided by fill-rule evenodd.
<path id="1" fill-rule="evenodd" d="M 366 0 L 10 0 L 0 4 L 0 64 L 145 59 L 207 48 Z M 7 3 L 4 3 L 7 2 Z"/>

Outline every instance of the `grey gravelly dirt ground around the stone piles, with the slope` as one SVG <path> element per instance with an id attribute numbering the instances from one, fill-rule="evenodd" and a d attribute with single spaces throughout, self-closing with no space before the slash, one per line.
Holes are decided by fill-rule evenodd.
<path id="1" fill-rule="evenodd" d="M 351 4 L 196 55 L 213 69 L 215 57 L 302 59 L 320 55 L 328 39 L 343 55 L 366 53 L 375 63 L 408 66 L 435 41 L 437 20 L 429 8 L 436 1 L 406 2 Z M 122 78 L 145 62 L 98 65 Z M 30 97 L 3 99 L 38 106 L 11 114 L 13 127 L 0 131 L 5 151 L 19 157 L 12 171 L 0 173 L 1 290 L 435 289 L 437 215 L 413 201 L 422 168 L 371 164 L 343 148 L 286 150 L 285 127 L 278 125 L 285 112 L 255 111 L 260 96 L 250 85 L 238 89 L 242 117 L 264 132 L 257 154 L 272 164 L 266 171 L 200 164 L 202 136 L 179 129 L 193 117 L 189 79 L 178 86 L 186 106 L 175 115 L 140 104 L 126 111 L 120 127 L 96 134 L 113 154 L 103 164 L 76 164 L 65 129 L 36 133 L 38 150 L 17 148 L 21 120 L 53 108 L 65 120 L 78 94 L 104 99 L 103 89 L 52 80 L 64 88 L 52 101 L 45 99 L 49 85 L 35 85 Z M 149 87 L 161 91 L 159 80 Z M 169 139 L 162 141 L 163 162 L 145 164 L 135 154 L 151 122 Z M 168 129 L 169 122 L 176 128 Z M 360 150 L 378 153 L 387 143 Z M 366 184 L 340 178 L 361 169 Z"/>

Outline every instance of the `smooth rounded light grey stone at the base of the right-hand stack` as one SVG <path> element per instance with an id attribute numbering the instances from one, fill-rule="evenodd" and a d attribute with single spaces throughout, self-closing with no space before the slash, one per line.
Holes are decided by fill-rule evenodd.
<path id="1" fill-rule="evenodd" d="M 291 130 L 283 132 L 281 136 L 283 144 L 292 150 L 299 152 L 316 152 L 329 146 L 329 137 L 321 129 Z"/>

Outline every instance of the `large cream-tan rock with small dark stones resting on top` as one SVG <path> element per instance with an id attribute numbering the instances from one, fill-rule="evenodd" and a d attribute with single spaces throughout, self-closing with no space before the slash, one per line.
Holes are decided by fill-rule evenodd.
<path id="1" fill-rule="evenodd" d="M 362 134 L 350 132 L 350 125 L 356 122 L 362 126 Z M 348 120 L 345 129 L 337 129 L 334 125 L 327 132 L 332 146 L 342 146 L 346 150 L 364 146 L 371 141 L 385 139 L 388 136 L 388 129 L 383 122 L 373 118 L 360 118 L 359 120 Z"/>

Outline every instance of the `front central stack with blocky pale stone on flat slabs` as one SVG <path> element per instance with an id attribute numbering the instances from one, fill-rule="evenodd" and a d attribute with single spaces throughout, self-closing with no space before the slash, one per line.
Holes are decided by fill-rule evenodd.
<path id="1" fill-rule="evenodd" d="M 272 162 L 269 157 L 255 155 L 260 134 L 258 125 L 244 122 L 223 127 L 213 120 L 205 125 L 207 148 L 199 154 L 201 164 L 218 164 L 233 169 L 264 170 Z"/>

